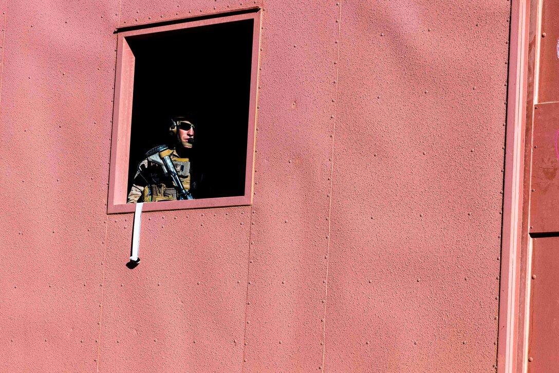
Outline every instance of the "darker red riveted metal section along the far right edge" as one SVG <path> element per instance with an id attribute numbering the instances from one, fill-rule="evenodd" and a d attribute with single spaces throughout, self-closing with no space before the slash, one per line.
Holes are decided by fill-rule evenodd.
<path id="1" fill-rule="evenodd" d="M 539 26 L 534 35 L 532 55 L 538 66 L 534 78 L 533 106 L 529 108 L 528 128 L 531 142 L 527 141 L 527 168 L 529 184 L 525 185 L 524 208 L 529 207 L 529 241 L 527 273 L 525 277 L 528 294 L 529 316 L 527 346 L 524 347 L 523 363 L 530 372 L 557 370 L 557 232 L 559 232 L 559 185 L 557 170 L 559 161 L 559 104 L 557 104 L 557 68 L 559 59 L 559 24 L 554 16 L 557 3 L 543 1 L 532 7 L 538 11 Z M 539 76 L 538 76 L 539 74 Z M 530 97 L 528 97 L 530 99 Z M 530 105 L 531 106 L 531 105 Z M 527 139 L 530 133 L 527 133 Z M 531 267 L 531 268 L 530 268 Z M 528 277 L 529 276 L 529 277 Z M 526 361 L 527 360 L 527 361 Z"/>

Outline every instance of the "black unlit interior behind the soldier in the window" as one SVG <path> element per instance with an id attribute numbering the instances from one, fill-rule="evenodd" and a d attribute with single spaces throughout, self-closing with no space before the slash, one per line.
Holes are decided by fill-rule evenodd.
<path id="1" fill-rule="evenodd" d="M 253 20 L 127 38 L 135 56 L 128 190 L 145 152 L 195 125 L 197 198 L 244 195 Z M 179 145 L 180 146 L 180 145 Z"/>

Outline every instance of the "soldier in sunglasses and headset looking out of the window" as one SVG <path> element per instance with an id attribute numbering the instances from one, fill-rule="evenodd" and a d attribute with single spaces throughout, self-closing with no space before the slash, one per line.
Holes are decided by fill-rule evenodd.
<path id="1" fill-rule="evenodd" d="M 184 116 L 176 116 L 171 121 L 169 131 L 173 136 L 174 143 L 170 144 L 165 154 L 170 157 L 177 170 L 181 184 L 186 190 L 186 199 L 193 199 L 196 195 L 196 182 L 191 175 L 190 158 L 194 143 L 194 125 L 188 122 Z M 153 150 L 156 150 L 156 148 Z M 157 151 L 154 152 L 155 155 L 157 153 Z M 138 165 L 138 172 L 134 176 L 134 183 L 128 194 L 127 203 L 185 199 L 184 196 L 179 195 L 170 172 L 165 172 L 162 165 L 153 162 L 150 158 L 145 158 Z"/>

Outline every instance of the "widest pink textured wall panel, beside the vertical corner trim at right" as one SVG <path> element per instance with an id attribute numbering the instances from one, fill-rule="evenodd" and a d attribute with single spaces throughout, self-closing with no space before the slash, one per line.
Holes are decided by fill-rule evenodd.
<path id="1" fill-rule="evenodd" d="M 494 370 L 508 11 L 343 3 L 326 370 Z"/>

